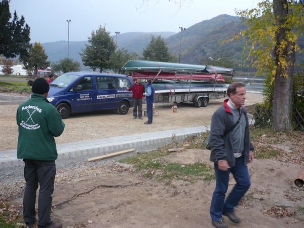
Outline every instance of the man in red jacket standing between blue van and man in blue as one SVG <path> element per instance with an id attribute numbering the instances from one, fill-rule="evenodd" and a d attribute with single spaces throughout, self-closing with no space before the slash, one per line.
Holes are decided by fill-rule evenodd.
<path id="1" fill-rule="evenodd" d="M 137 107 L 138 107 L 138 118 L 142 120 L 142 97 L 144 93 L 144 87 L 140 84 L 140 79 L 136 79 L 136 83 L 132 87 L 127 87 L 127 90 L 133 91 L 133 119 L 137 118 Z"/>

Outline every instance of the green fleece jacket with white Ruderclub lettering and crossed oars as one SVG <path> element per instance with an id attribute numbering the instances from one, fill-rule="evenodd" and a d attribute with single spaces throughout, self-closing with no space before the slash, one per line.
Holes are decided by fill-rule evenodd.
<path id="1" fill-rule="evenodd" d="M 57 109 L 41 94 L 33 94 L 17 109 L 18 159 L 54 161 L 57 148 L 54 137 L 60 136 L 65 124 Z"/>

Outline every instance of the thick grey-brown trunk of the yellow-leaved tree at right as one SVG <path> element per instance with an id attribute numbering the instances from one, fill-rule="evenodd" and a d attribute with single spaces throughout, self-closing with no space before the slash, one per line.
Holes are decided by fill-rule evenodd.
<path id="1" fill-rule="evenodd" d="M 286 20 L 288 14 L 287 0 L 274 0 L 274 15 L 276 25 L 279 29 L 276 32 L 275 45 L 275 84 L 274 84 L 274 105 L 273 105 L 273 129 L 276 131 L 291 130 L 291 98 L 292 98 L 292 81 L 293 68 L 295 63 L 294 43 L 287 40 L 286 33 L 290 30 L 290 26 Z M 282 42 L 287 45 L 283 49 L 283 55 L 278 51 Z M 285 59 L 287 65 L 282 68 L 280 58 Z M 284 77 L 284 70 L 287 77 Z"/>

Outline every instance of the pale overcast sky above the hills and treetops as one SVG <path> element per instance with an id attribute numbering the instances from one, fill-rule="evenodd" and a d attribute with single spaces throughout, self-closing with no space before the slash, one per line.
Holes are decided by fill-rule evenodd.
<path id="1" fill-rule="evenodd" d="M 1 1 L 1 0 L 0 0 Z M 169 0 L 11 0 L 10 10 L 24 16 L 31 43 L 87 41 L 99 25 L 115 35 L 126 32 L 179 32 L 220 14 L 256 7 L 258 0 L 193 0 L 181 7 Z M 178 2 L 178 1 L 177 1 Z M 142 7 L 141 7 L 142 6 Z M 118 35 L 119 39 L 119 35 Z"/>

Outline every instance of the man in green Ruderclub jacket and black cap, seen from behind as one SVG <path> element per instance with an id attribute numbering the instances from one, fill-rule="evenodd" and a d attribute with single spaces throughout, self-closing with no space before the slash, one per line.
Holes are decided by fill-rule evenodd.
<path id="1" fill-rule="evenodd" d="M 35 223 L 36 191 L 38 198 L 38 227 L 62 227 L 50 219 L 52 194 L 58 157 L 54 137 L 60 136 L 64 123 L 57 109 L 49 103 L 50 86 L 44 78 L 32 85 L 32 96 L 17 109 L 18 145 L 17 158 L 23 159 L 26 181 L 23 197 L 23 217 L 27 227 Z"/>

